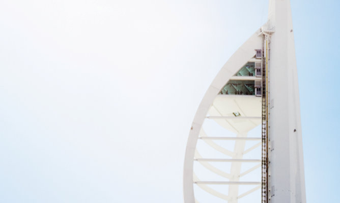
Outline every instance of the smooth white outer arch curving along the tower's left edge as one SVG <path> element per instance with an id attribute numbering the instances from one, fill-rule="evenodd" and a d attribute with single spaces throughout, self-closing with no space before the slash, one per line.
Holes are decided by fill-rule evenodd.
<path id="1" fill-rule="evenodd" d="M 234 76 L 240 67 L 246 64 L 250 58 L 256 54 L 256 49 L 262 48 L 262 35 L 260 29 L 257 30 L 223 65 L 212 84 L 209 86 L 204 98 L 201 101 L 199 109 L 196 112 L 192 122 L 189 138 L 187 142 L 185 160 L 184 160 L 184 174 L 183 174 L 183 192 L 184 202 L 194 203 L 193 191 L 193 161 L 196 149 L 197 139 L 201 131 L 204 119 L 211 107 L 216 95 L 222 89 L 226 82 Z"/>

